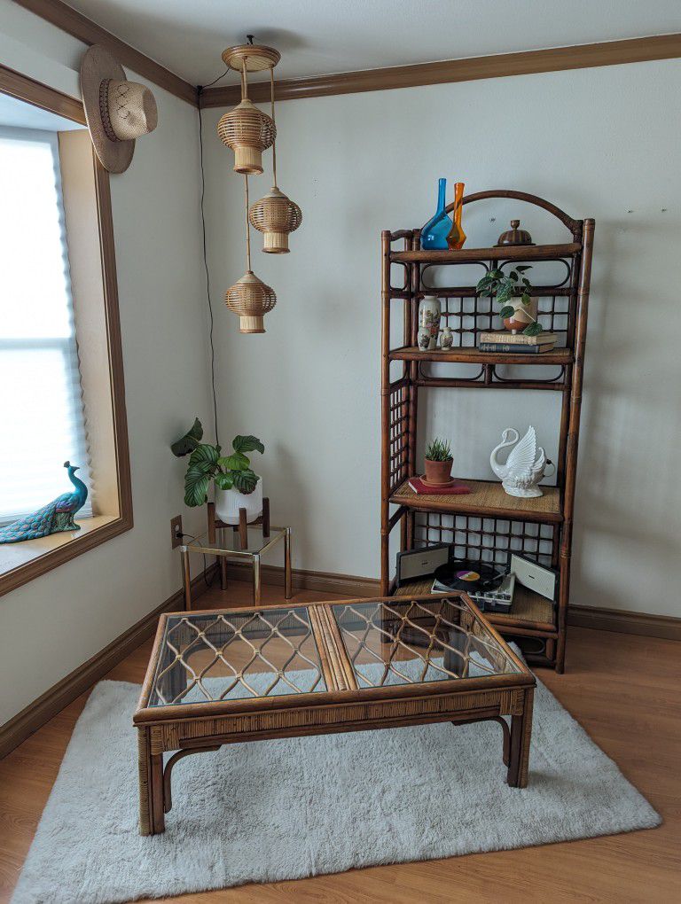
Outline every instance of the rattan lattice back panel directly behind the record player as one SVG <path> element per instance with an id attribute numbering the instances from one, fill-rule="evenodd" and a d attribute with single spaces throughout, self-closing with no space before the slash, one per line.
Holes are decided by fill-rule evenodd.
<path id="1" fill-rule="evenodd" d="M 540 565 L 555 568 L 559 541 L 560 524 L 438 512 L 417 512 L 415 515 L 415 546 L 452 543 L 458 559 L 506 567 L 509 552 L 517 552 Z"/>

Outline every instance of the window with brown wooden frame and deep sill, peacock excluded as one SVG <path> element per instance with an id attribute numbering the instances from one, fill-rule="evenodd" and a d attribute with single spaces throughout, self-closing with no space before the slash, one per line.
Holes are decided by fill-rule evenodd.
<path id="1" fill-rule="evenodd" d="M 80 101 L 0 63 L 0 525 L 71 487 L 80 530 L 0 543 L 0 596 L 133 526 L 109 174 Z"/>

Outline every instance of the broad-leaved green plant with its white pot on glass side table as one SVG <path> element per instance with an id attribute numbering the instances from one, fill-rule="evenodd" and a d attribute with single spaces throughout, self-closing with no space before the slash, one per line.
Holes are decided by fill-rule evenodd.
<path id="1" fill-rule="evenodd" d="M 226 524 L 239 523 L 239 509 L 246 509 L 248 521 L 262 514 L 262 480 L 251 468 L 247 452 L 265 451 L 258 437 L 237 436 L 232 452 L 222 455 L 220 446 L 203 443 L 203 426 L 196 418 L 194 426 L 171 446 L 178 458 L 189 456 L 184 475 L 184 503 L 203 505 L 208 500 L 211 481 L 215 485 L 215 513 Z"/>

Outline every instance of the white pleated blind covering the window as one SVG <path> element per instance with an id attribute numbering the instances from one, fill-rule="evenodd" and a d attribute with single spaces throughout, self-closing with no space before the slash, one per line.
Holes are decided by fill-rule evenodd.
<path id="1" fill-rule="evenodd" d="M 0 127 L 0 523 L 90 488 L 55 132 Z M 90 497 L 78 513 L 92 514 Z"/>

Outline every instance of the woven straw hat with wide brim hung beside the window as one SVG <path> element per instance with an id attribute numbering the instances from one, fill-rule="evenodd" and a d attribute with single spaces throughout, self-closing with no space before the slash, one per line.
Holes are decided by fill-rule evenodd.
<path id="1" fill-rule="evenodd" d="M 154 95 L 144 85 L 128 81 L 120 63 L 100 44 L 92 44 L 83 55 L 80 91 L 101 165 L 109 173 L 125 172 L 135 152 L 135 139 L 156 128 Z"/>

